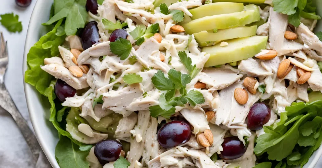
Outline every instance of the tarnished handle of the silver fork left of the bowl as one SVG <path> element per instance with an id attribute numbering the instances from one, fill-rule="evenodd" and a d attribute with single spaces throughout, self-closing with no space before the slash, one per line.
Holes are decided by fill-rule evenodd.
<path id="1" fill-rule="evenodd" d="M 24 139 L 26 140 L 33 154 L 34 164 L 36 164 L 39 155 L 43 153 L 43 150 L 41 149 L 36 136 L 33 134 L 33 131 L 29 128 L 26 120 L 21 116 L 21 113 L 18 111 L 17 107 L 12 101 L 11 96 L 6 90 L 4 83 L 0 84 L 0 106 L 6 111 L 8 111 L 11 114 L 14 121 L 17 123 L 18 128 L 20 129 L 22 135 L 24 136 Z"/>

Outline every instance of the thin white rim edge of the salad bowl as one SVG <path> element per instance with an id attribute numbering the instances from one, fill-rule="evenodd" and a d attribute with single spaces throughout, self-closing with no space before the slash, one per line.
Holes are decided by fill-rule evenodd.
<path id="1" fill-rule="evenodd" d="M 42 5 L 44 5 L 44 3 L 46 3 L 45 0 L 37 0 L 35 6 L 33 8 L 31 17 L 30 17 L 28 30 L 27 30 L 27 36 L 26 36 L 25 45 L 24 45 L 23 80 L 24 80 L 25 71 L 28 69 L 27 54 L 29 52 L 29 49 L 34 44 L 32 37 L 35 35 L 34 31 L 37 30 L 36 25 L 39 24 L 39 22 L 37 22 L 37 12 L 40 11 L 40 9 L 42 8 Z M 50 149 L 46 145 L 46 141 L 43 138 L 43 136 L 41 135 L 41 131 L 39 130 L 39 128 L 36 125 L 37 121 L 36 121 L 35 116 L 37 114 L 35 112 L 36 109 L 34 109 L 34 107 L 33 107 L 33 101 L 31 101 L 31 94 L 30 94 L 31 92 L 34 92 L 35 90 L 33 89 L 33 86 L 31 86 L 30 84 L 27 84 L 24 81 L 23 81 L 23 83 L 24 83 L 24 92 L 25 92 L 25 97 L 26 97 L 26 102 L 27 102 L 28 113 L 30 116 L 30 120 L 31 120 L 33 129 L 34 129 L 35 135 L 37 137 L 37 140 L 38 140 L 41 148 L 43 149 L 44 154 L 46 155 L 50 164 L 52 165 L 52 167 L 59 168 L 60 166 L 58 165 L 54 154 L 51 153 Z M 311 163 L 309 163 L 309 162 L 307 163 L 307 164 L 309 164 L 308 168 L 314 168 L 314 166 L 317 164 L 318 160 L 320 159 L 320 157 L 322 155 L 322 145 L 314 153 L 316 153 L 316 155 L 314 156 Z"/>

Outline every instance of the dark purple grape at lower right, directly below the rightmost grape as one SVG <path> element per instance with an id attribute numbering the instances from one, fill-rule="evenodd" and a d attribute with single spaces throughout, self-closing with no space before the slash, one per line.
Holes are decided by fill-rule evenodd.
<path id="1" fill-rule="evenodd" d="M 244 155 L 247 147 L 244 146 L 242 141 L 238 137 L 226 137 L 222 143 L 223 151 L 220 153 L 220 157 L 224 160 L 237 159 Z"/>

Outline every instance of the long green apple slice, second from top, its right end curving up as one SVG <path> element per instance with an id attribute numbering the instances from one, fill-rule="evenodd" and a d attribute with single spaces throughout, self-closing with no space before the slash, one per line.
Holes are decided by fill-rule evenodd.
<path id="1" fill-rule="evenodd" d="M 248 9 L 251 8 L 251 10 L 228 14 L 219 14 L 213 16 L 205 16 L 203 18 L 199 18 L 189 23 L 183 24 L 182 26 L 184 27 L 185 32 L 187 34 L 194 34 L 200 31 L 208 31 L 213 29 L 228 29 L 238 26 L 244 26 L 246 24 L 259 21 L 260 14 L 258 7 L 254 4 L 249 4 L 246 6 L 248 6 Z"/>

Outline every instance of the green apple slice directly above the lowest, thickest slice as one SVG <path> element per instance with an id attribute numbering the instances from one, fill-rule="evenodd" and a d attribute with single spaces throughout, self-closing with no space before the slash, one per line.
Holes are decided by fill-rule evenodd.
<path id="1" fill-rule="evenodd" d="M 199 33 L 194 33 L 194 38 L 198 44 L 204 44 L 204 42 L 209 41 L 222 41 L 241 37 L 249 37 L 256 35 L 257 26 L 240 26 L 230 29 L 221 29 L 216 33 L 213 31 L 200 31 Z M 207 45 L 210 46 L 210 45 Z"/>

